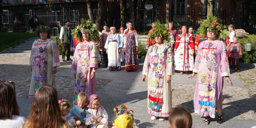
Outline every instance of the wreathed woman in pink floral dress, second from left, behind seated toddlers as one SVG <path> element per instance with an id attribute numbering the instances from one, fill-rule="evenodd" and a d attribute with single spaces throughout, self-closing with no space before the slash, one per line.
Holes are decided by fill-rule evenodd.
<path id="1" fill-rule="evenodd" d="M 95 91 L 95 69 L 98 68 L 97 45 L 91 40 L 99 36 L 98 30 L 90 20 L 82 19 L 79 29 L 71 30 L 71 34 L 80 42 L 75 50 L 74 60 L 71 68 L 74 68 L 75 89 L 73 104 L 77 105 L 77 96 L 80 92 L 87 93 L 88 97 L 96 94 Z"/>

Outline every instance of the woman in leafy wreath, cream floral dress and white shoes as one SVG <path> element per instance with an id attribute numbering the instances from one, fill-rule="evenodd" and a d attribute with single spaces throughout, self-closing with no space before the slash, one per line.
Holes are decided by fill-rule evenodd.
<path id="1" fill-rule="evenodd" d="M 155 40 L 150 46 L 145 58 L 142 82 L 148 76 L 148 113 L 152 115 L 151 120 L 164 121 L 172 112 L 172 86 L 171 76 L 174 75 L 174 55 L 168 42 L 170 37 L 168 28 L 155 22 L 155 28 L 149 34 L 149 38 Z"/>

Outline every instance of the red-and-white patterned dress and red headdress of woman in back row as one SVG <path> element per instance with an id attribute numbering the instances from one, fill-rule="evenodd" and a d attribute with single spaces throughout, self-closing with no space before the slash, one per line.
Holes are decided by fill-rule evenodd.
<path id="1" fill-rule="evenodd" d="M 186 26 L 182 26 L 182 29 L 186 28 Z M 192 71 L 194 64 L 194 55 L 192 51 L 194 51 L 195 46 L 193 42 L 193 38 L 191 34 L 181 33 L 178 35 L 176 40 L 176 44 L 174 47 L 175 54 L 175 70 L 177 71 Z"/>

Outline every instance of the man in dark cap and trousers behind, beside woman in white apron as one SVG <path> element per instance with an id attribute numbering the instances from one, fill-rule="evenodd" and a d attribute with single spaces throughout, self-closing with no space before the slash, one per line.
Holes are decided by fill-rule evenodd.
<path id="1" fill-rule="evenodd" d="M 105 61 L 105 65 L 103 67 L 107 67 L 108 66 L 108 54 L 106 53 L 106 48 L 104 48 L 104 46 L 106 44 L 106 40 L 107 40 L 108 35 L 110 34 L 110 32 L 108 31 L 108 25 L 107 24 L 103 25 L 103 29 L 104 29 L 104 32 L 101 33 L 100 48 L 102 49 L 103 57 L 104 57 L 104 61 Z"/>

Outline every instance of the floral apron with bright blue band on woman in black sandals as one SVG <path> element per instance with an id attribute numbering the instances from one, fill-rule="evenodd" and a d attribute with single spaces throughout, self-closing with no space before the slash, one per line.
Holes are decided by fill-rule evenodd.
<path id="1" fill-rule="evenodd" d="M 217 68 L 218 62 L 216 57 L 216 48 L 218 42 L 210 43 L 209 46 L 214 45 L 213 48 L 203 48 L 200 52 L 199 67 L 207 67 L 198 69 L 198 83 L 199 83 L 199 110 L 202 112 L 212 112 L 215 108 L 214 98 L 216 92 Z M 221 65 L 220 65 L 221 66 Z"/>

